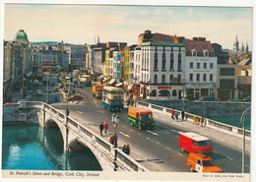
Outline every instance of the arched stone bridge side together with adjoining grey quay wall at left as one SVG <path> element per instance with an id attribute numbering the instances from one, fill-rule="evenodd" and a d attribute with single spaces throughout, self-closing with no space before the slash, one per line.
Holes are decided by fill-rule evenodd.
<path id="1" fill-rule="evenodd" d="M 35 120 L 41 127 L 57 126 L 63 138 L 63 149 L 75 151 L 81 145 L 90 149 L 96 156 L 103 171 L 148 171 L 135 159 L 122 152 L 90 129 L 70 116 L 44 102 L 22 101 L 20 104 L 8 104 L 3 108 L 4 122 L 28 122 Z M 10 112 L 10 117 L 7 117 Z M 13 117 L 13 118 L 12 118 Z"/>

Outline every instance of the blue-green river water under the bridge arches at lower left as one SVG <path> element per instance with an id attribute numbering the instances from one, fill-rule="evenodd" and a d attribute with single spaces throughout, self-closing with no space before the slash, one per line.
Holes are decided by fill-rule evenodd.
<path id="1" fill-rule="evenodd" d="M 94 153 L 87 148 L 63 152 L 58 128 L 4 125 L 2 135 L 2 169 L 101 170 Z"/>

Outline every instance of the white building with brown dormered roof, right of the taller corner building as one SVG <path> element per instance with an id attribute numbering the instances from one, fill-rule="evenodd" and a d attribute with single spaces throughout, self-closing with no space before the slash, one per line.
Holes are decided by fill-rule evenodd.
<path id="1" fill-rule="evenodd" d="M 185 80 L 188 98 L 215 96 L 218 58 L 210 41 L 194 37 L 183 39 L 186 44 Z"/>

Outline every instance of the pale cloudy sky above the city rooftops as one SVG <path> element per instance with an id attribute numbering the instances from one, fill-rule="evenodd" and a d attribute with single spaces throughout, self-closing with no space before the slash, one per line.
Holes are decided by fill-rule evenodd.
<path id="1" fill-rule="evenodd" d="M 25 30 L 30 41 L 61 41 L 78 44 L 122 41 L 138 43 L 144 30 L 170 35 L 203 36 L 232 49 L 252 47 L 252 8 L 193 6 L 110 6 L 5 4 L 4 39 L 13 40 Z"/>

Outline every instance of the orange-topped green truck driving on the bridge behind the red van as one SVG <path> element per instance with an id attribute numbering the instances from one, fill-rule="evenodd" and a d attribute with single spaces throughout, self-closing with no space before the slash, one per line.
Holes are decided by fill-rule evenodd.
<path id="1" fill-rule="evenodd" d="M 142 129 L 152 130 L 155 127 L 153 113 L 144 107 L 130 107 L 128 110 L 128 122 Z"/>

